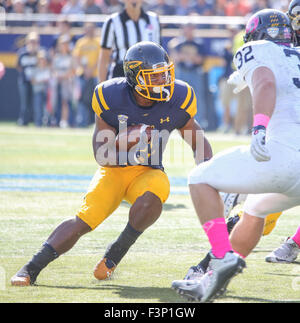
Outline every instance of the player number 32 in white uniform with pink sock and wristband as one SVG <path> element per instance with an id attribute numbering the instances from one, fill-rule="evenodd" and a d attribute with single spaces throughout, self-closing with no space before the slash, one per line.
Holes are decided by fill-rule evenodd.
<path id="1" fill-rule="evenodd" d="M 252 94 L 251 145 L 221 152 L 189 176 L 212 247 L 209 270 L 199 280 L 174 281 L 172 287 L 201 302 L 222 294 L 245 267 L 242 258 L 260 240 L 267 214 L 300 205 L 300 54 L 291 47 L 289 18 L 278 10 L 257 12 L 244 41 L 234 64 Z M 248 194 L 230 240 L 219 192 Z"/>

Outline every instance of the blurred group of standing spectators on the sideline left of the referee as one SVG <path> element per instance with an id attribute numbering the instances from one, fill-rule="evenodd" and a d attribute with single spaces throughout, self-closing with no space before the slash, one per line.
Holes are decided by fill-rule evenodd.
<path id="1" fill-rule="evenodd" d="M 32 115 L 36 126 L 86 127 L 94 121 L 91 97 L 100 53 L 95 25 L 86 23 L 79 39 L 72 37 L 67 20 L 59 29 L 50 49 L 42 48 L 32 31 L 19 50 L 19 125 L 27 125 Z"/>

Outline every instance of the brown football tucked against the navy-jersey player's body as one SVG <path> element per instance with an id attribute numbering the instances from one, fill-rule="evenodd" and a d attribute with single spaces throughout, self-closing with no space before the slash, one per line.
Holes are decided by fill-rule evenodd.
<path id="1" fill-rule="evenodd" d="M 116 136 L 116 148 L 118 151 L 129 151 L 140 140 L 143 140 L 145 143 L 150 142 L 150 126 L 139 124 L 122 129 Z"/>

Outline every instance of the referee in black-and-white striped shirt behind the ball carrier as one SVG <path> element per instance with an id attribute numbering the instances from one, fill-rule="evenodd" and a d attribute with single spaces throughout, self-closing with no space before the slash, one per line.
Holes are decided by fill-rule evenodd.
<path id="1" fill-rule="evenodd" d="M 161 43 L 158 15 L 145 12 L 143 0 L 124 0 L 124 3 L 124 10 L 110 15 L 102 27 L 99 82 L 124 76 L 123 59 L 130 46 L 143 40 Z"/>

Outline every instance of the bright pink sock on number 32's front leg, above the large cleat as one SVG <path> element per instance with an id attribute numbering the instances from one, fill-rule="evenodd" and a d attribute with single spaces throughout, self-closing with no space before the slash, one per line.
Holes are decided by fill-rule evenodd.
<path id="1" fill-rule="evenodd" d="M 203 224 L 203 229 L 212 247 L 212 253 L 217 258 L 223 258 L 228 251 L 233 251 L 225 219 L 216 218 Z"/>

